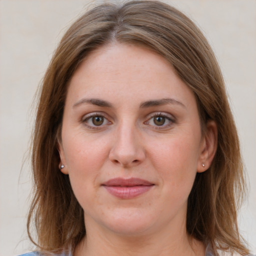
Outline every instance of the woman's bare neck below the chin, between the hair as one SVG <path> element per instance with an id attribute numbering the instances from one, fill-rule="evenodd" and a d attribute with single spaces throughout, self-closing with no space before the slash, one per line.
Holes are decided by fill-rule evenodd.
<path id="1" fill-rule="evenodd" d="M 86 225 L 86 236 L 75 248 L 74 256 L 204 256 L 205 246 L 187 235 L 185 226 L 137 235 L 116 234 Z"/>

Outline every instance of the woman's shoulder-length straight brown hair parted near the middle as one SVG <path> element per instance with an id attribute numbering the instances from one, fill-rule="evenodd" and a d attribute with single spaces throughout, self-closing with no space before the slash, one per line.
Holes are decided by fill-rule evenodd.
<path id="1" fill-rule="evenodd" d="M 196 174 L 186 229 L 191 237 L 210 243 L 213 251 L 247 254 L 236 216 L 245 189 L 243 164 L 220 68 L 204 35 L 187 16 L 151 0 L 93 7 L 69 27 L 56 48 L 42 80 L 34 125 L 29 238 L 39 250 L 56 253 L 72 251 L 85 235 L 83 209 L 68 175 L 59 171 L 58 139 L 70 78 L 90 52 L 111 42 L 135 44 L 163 56 L 193 91 L 201 126 L 215 121 L 216 154 L 208 170 Z"/>

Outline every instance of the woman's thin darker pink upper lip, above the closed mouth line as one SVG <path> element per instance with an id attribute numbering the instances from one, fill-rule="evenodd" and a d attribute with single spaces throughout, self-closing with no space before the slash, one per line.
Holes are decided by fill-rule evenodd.
<path id="1" fill-rule="evenodd" d="M 141 178 L 135 178 L 135 177 L 121 178 L 121 177 L 117 177 L 117 178 L 111 178 L 111 179 L 107 180 L 102 185 L 105 185 L 105 186 L 137 186 L 137 185 L 148 186 L 148 185 L 153 185 L 153 183 L 148 181 L 148 180 L 141 179 Z"/>

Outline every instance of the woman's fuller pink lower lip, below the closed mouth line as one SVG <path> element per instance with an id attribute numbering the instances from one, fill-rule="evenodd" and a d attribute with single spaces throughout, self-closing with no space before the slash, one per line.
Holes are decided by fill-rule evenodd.
<path id="1" fill-rule="evenodd" d="M 105 189 L 115 197 L 121 199 L 131 199 L 150 190 L 153 185 L 136 186 L 104 186 Z"/>

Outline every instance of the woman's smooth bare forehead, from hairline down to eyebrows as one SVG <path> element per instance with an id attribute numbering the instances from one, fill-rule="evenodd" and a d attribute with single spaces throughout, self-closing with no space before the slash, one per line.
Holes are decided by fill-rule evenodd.
<path id="1" fill-rule="evenodd" d="M 162 56 L 137 45 L 112 43 L 92 51 L 74 72 L 68 95 L 132 100 L 194 97 Z"/>

